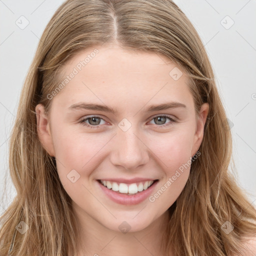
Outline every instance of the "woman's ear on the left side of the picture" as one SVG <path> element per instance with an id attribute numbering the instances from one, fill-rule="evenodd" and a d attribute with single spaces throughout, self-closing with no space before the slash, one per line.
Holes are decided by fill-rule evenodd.
<path id="1" fill-rule="evenodd" d="M 36 112 L 36 126 L 37 135 L 43 146 L 50 156 L 55 156 L 54 146 L 50 133 L 48 116 L 45 115 L 45 109 L 42 104 L 37 104 L 35 107 Z"/>

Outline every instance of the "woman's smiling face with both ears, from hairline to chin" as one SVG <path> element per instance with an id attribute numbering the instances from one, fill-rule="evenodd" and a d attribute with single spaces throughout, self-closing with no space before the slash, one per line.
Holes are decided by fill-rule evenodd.
<path id="1" fill-rule="evenodd" d="M 49 95 L 48 116 L 36 106 L 39 139 L 55 156 L 76 212 L 111 230 L 120 231 L 121 223 L 141 230 L 184 188 L 208 104 L 196 118 L 188 77 L 162 55 L 118 46 L 93 50 L 65 65 L 68 82 Z M 99 180 L 111 181 L 111 188 Z M 147 180 L 156 181 L 132 194 Z"/>

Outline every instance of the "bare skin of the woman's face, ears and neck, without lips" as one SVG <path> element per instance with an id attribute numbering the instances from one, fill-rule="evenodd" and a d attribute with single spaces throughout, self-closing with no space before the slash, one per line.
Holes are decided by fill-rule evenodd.
<path id="1" fill-rule="evenodd" d="M 86 66 L 53 96 L 49 116 L 41 104 L 35 108 L 39 139 L 55 156 L 60 181 L 72 199 L 80 228 L 76 255 L 163 255 L 160 243 L 167 210 L 184 188 L 190 166 L 154 201 L 147 198 L 136 205 L 112 201 L 96 180 L 158 179 L 154 195 L 197 152 L 209 105 L 202 105 L 197 119 L 188 77 L 183 72 L 173 79 L 169 73 L 177 65 L 164 56 L 118 45 L 97 49 Z M 65 75 L 92 51 L 87 49 L 68 61 Z M 147 111 L 150 105 L 170 101 L 185 107 Z M 68 109 L 78 102 L 112 107 L 116 113 Z M 158 121 L 157 115 L 162 116 Z M 79 122 L 91 116 L 99 118 Z M 131 125 L 126 131 L 118 126 L 123 118 L 128 120 L 125 125 Z M 97 128 L 89 127 L 93 125 Z M 80 175 L 74 183 L 67 178 L 72 169 Z M 130 228 L 127 233 L 119 228 L 123 221 Z"/>

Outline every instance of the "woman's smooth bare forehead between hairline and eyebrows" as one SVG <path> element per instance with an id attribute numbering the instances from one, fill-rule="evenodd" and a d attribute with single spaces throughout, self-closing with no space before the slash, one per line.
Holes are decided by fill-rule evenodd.
<path id="1" fill-rule="evenodd" d="M 115 102 L 119 107 L 159 100 L 192 103 L 184 70 L 151 51 L 119 46 L 86 49 L 65 64 L 61 82 L 64 88 L 54 98 L 62 106 L 77 101 Z"/>

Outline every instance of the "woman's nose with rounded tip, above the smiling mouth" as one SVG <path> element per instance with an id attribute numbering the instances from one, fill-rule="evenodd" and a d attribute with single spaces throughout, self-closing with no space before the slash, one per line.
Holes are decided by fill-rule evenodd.
<path id="1" fill-rule="evenodd" d="M 132 126 L 127 131 L 117 131 L 110 157 L 112 164 L 125 169 L 136 169 L 148 162 L 149 149 L 137 133 Z"/>

